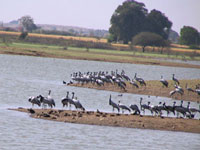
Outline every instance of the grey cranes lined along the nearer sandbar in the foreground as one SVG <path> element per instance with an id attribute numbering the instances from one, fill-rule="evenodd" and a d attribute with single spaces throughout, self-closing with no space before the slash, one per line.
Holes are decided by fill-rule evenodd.
<path id="1" fill-rule="evenodd" d="M 32 96 L 29 97 L 29 102 L 32 103 L 32 107 L 34 106 L 34 104 L 41 106 L 45 108 L 47 106 L 49 106 L 50 108 L 55 107 L 55 101 L 54 99 L 50 96 L 51 94 L 51 90 L 49 90 L 48 96 L 44 97 L 42 95 L 39 96 Z M 85 108 L 83 107 L 83 105 L 81 104 L 81 102 L 79 100 L 77 100 L 77 97 L 74 96 L 75 93 L 72 92 L 72 97 L 69 97 L 69 92 L 67 91 L 67 95 L 65 97 L 63 97 L 61 99 L 61 103 L 63 107 L 67 107 L 71 110 L 71 105 L 74 105 L 74 108 L 76 108 L 76 110 L 82 110 L 85 111 Z M 124 113 L 125 111 L 128 111 L 129 113 L 133 113 L 135 115 L 142 115 L 141 112 L 143 112 L 143 114 L 145 114 L 145 111 L 149 111 L 152 116 L 153 115 L 157 115 L 157 116 L 162 116 L 163 115 L 163 111 L 165 111 L 167 113 L 167 116 L 170 113 L 173 113 L 174 116 L 179 117 L 179 114 L 182 114 L 182 117 L 188 117 L 188 118 L 194 118 L 195 114 L 200 113 L 200 105 L 199 105 L 199 109 L 197 108 L 191 108 L 190 107 L 190 102 L 188 102 L 187 107 L 183 106 L 183 101 L 181 101 L 180 105 L 176 105 L 176 102 L 173 103 L 173 105 L 166 105 L 165 102 L 159 102 L 158 105 L 151 105 L 151 102 L 148 101 L 147 104 L 143 103 L 143 98 L 140 98 L 140 105 L 136 105 L 136 104 L 130 104 L 129 106 L 122 104 L 120 101 L 118 101 L 118 103 L 114 102 L 112 100 L 112 97 L 110 95 L 109 97 L 109 105 L 113 108 L 113 112 L 115 112 L 115 110 L 117 110 L 117 113 Z M 163 116 L 162 116 L 163 117 Z"/>

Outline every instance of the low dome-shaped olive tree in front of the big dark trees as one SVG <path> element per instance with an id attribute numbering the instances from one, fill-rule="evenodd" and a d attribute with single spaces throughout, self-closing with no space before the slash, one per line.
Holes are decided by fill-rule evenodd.
<path id="1" fill-rule="evenodd" d="M 164 40 L 162 36 L 151 32 L 141 32 L 137 34 L 133 38 L 132 44 L 142 46 L 143 52 L 145 52 L 146 46 L 158 46 L 158 47 L 168 46 L 168 42 Z"/>

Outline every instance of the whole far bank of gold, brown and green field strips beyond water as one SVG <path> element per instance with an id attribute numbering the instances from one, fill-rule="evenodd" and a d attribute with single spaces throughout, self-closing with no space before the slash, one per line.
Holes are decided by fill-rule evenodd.
<path id="1" fill-rule="evenodd" d="M 24 38 L 24 39 L 23 39 Z M 93 41 L 92 41 L 93 40 Z M 96 41 L 95 41 L 96 40 Z M 200 51 L 173 44 L 172 47 L 145 48 L 107 43 L 105 39 L 0 31 L 0 53 L 97 60 L 119 63 L 153 64 L 199 68 L 198 65 L 160 61 L 160 59 L 200 60 Z M 156 58 L 156 59 L 155 59 Z"/>

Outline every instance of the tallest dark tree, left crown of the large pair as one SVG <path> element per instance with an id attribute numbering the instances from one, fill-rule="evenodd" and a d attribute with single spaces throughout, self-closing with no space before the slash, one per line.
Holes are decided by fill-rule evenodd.
<path id="1" fill-rule="evenodd" d="M 143 29 L 147 9 L 143 3 L 134 0 L 125 1 L 118 6 L 111 17 L 109 29 L 114 41 L 131 41 L 132 37 Z"/>

